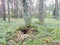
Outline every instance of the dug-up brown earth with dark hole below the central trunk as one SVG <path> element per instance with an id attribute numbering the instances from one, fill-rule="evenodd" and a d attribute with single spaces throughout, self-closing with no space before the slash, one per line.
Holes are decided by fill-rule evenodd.
<path id="1" fill-rule="evenodd" d="M 34 36 L 36 35 L 38 31 L 35 30 L 34 28 L 31 28 L 31 27 L 27 27 L 26 29 L 22 29 L 22 30 L 18 30 L 17 32 L 15 32 L 13 34 L 13 39 L 10 39 L 9 41 L 10 42 L 15 42 L 16 44 L 19 42 L 19 41 L 22 41 L 24 42 L 24 40 L 26 38 L 28 39 L 32 39 L 34 38 Z"/>

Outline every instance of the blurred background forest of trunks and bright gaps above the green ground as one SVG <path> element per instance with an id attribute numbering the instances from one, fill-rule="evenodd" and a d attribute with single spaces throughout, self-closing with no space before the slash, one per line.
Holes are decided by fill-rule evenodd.
<path id="1" fill-rule="evenodd" d="M 40 1 L 41 2 L 41 1 Z M 23 0 L 0 0 L 0 18 L 3 20 L 24 18 L 26 10 L 27 16 L 33 18 L 59 18 L 60 1 L 59 0 L 44 0 L 40 4 L 39 0 L 27 0 L 26 4 Z M 25 6 L 23 6 L 25 5 Z M 24 9 L 25 7 L 25 9 Z M 28 8 L 28 9 L 26 9 Z M 41 9 L 40 9 L 41 8 Z M 55 13 L 56 12 L 56 13 Z M 43 13 L 40 14 L 40 13 Z M 39 16 L 42 15 L 42 16 Z M 27 17 L 26 16 L 26 17 Z M 29 17 L 30 17 L 29 16 Z M 42 19 L 43 20 L 43 19 Z"/>

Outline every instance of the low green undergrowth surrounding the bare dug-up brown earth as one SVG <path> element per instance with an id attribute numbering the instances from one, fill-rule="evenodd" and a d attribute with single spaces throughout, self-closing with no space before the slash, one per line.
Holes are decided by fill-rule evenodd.
<path id="1" fill-rule="evenodd" d="M 34 29 L 38 30 L 38 34 L 34 40 L 26 38 L 24 40 L 25 45 L 43 45 L 43 42 L 45 42 L 45 45 L 46 43 L 49 45 L 54 40 L 60 40 L 60 23 L 56 23 L 53 22 L 52 24 L 52 22 L 49 23 L 47 21 L 44 25 L 40 25 L 36 22 L 30 24 Z M 19 41 L 17 44 L 14 42 L 9 42 L 9 44 L 7 44 L 6 40 L 8 38 L 13 38 L 13 34 L 18 29 L 21 30 L 24 28 L 26 28 L 24 20 L 17 20 L 10 23 L 0 20 L 0 45 L 23 45 L 21 41 Z"/>

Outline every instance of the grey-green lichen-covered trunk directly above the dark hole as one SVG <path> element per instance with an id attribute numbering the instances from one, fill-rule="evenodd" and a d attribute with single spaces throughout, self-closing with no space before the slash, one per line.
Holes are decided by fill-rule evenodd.
<path id="1" fill-rule="evenodd" d="M 30 14 L 29 14 L 29 11 L 28 11 L 28 5 L 27 5 L 27 2 L 26 0 L 23 0 L 23 10 L 24 10 L 24 19 L 26 21 L 26 25 L 29 25 L 30 24 Z"/>

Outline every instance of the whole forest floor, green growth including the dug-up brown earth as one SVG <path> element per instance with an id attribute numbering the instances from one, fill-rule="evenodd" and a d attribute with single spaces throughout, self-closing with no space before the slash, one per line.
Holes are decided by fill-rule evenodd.
<path id="1" fill-rule="evenodd" d="M 25 26 L 23 19 L 10 23 L 0 19 L 0 45 L 50 45 L 55 42 L 60 42 L 59 20 L 47 18 L 41 25 L 34 18 L 29 27 Z"/>

